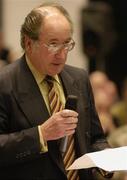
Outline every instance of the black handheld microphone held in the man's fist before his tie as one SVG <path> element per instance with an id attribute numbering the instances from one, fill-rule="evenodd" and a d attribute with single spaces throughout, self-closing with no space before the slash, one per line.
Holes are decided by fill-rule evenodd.
<path id="1" fill-rule="evenodd" d="M 67 101 L 66 101 L 66 104 L 65 104 L 65 109 L 70 109 L 70 110 L 76 111 L 77 102 L 78 102 L 77 96 L 69 95 L 67 97 Z M 61 153 L 65 153 L 65 151 L 67 149 L 67 142 L 68 142 L 68 137 L 67 136 L 65 136 L 65 137 L 63 137 L 61 139 L 61 142 L 60 142 L 60 151 L 61 151 Z"/>

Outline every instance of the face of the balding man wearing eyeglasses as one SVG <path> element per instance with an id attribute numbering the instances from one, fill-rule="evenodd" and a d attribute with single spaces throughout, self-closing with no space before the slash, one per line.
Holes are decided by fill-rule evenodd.
<path id="1" fill-rule="evenodd" d="M 44 20 L 38 41 L 31 41 L 28 58 L 42 74 L 55 75 L 63 69 L 68 51 L 61 48 L 52 52 L 49 45 L 59 46 L 71 40 L 71 27 L 61 14 L 51 14 Z M 48 46 L 47 46 L 48 45 Z"/>

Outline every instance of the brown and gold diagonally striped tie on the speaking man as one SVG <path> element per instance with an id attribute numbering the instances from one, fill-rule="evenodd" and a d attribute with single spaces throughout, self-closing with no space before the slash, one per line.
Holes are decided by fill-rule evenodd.
<path id="1" fill-rule="evenodd" d="M 49 86 L 48 98 L 49 98 L 51 114 L 54 114 L 62 110 L 63 106 L 54 87 L 55 79 L 53 79 L 53 77 L 51 76 L 46 76 L 45 80 Z M 73 135 L 70 135 L 68 137 L 67 150 L 63 155 L 65 169 L 67 169 L 73 163 L 74 160 L 75 160 L 74 137 Z M 75 170 L 67 171 L 67 178 L 68 180 L 79 180 L 77 171 Z"/>

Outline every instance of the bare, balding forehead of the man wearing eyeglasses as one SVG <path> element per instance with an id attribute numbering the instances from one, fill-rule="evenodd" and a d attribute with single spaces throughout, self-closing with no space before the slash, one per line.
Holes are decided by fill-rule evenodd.
<path id="1" fill-rule="evenodd" d="M 54 7 L 43 7 L 38 9 L 45 17 L 43 20 L 41 34 L 49 38 L 54 36 L 71 36 L 72 27 L 68 19 Z"/>

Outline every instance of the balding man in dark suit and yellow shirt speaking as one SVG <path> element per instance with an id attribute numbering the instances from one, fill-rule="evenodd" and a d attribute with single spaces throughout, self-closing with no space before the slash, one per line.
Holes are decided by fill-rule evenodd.
<path id="1" fill-rule="evenodd" d="M 65 65 L 75 45 L 72 33 L 71 19 L 58 4 L 43 4 L 25 18 L 25 53 L 0 73 L 0 179 L 67 179 L 60 151 L 65 136 L 74 137 L 75 158 L 108 147 L 87 74 Z M 55 113 L 47 75 L 54 79 L 62 105 Z M 70 94 L 78 97 L 77 112 L 64 109 Z M 77 175 L 91 179 L 92 171 Z"/>

